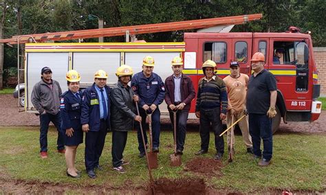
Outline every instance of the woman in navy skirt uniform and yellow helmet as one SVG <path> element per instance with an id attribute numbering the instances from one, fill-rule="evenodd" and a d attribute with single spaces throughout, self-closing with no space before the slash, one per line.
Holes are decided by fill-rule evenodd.
<path id="1" fill-rule="evenodd" d="M 80 178 L 80 172 L 76 169 L 74 161 L 78 145 L 83 143 L 83 130 L 80 124 L 82 92 L 79 91 L 79 73 L 75 70 L 68 71 L 66 80 L 68 91 L 61 95 L 60 109 L 63 119 L 61 130 L 65 135 L 67 176 Z"/>

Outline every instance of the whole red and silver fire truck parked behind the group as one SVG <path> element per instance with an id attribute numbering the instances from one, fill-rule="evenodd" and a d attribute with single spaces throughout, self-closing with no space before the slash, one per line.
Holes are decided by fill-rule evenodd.
<path id="1" fill-rule="evenodd" d="M 178 43 L 26 43 L 25 111 L 35 112 L 30 97 L 34 84 L 40 80 L 41 68 L 45 66 L 52 69 L 53 79 L 65 91 L 65 73 L 69 69 L 76 69 L 80 73 L 82 88 L 90 86 L 94 82 L 94 72 L 103 69 L 109 74 L 107 83 L 111 86 L 117 82 L 115 71 L 120 65 L 131 66 L 134 72 L 141 71 L 142 58 L 149 55 L 155 59 L 154 72 L 165 80 L 173 73 L 173 57 L 182 56 L 182 73 L 190 76 L 196 86 L 204 76 L 204 61 L 214 60 L 217 63 L 217 75 L 221 78 L 230 74 L 231 61 L 239 62 L 241 73 L 250 76 L 250 58 L 260 51 L 265 55 L 265 69 L 274 74 L 278 87 L 277 115 L 272 119 L 273 133 L 279 128 L 282 118 L 285 123 L 313 122 L 318 119 L 321 102 L 316 99 L 320 95 L 320 84 L 311 36 L 300 33 L 296 27 L 282 33 L 223 33 L 226 29 L 229 31 L 234 24 L 226 23 L 223 27 L 219 25 L 219 30 L 215 27 L 213 32 L 212 27 L 199 32 L 186 32 L 184 41 Z M 283 51 L 277 63 L 273 62 L 276 49 Z M 162 115 L 167 116 L 165 103 L 160 105 L 160 110 Z M 191 102 L 189 118 L 195 118 L 195 100 Z"/>

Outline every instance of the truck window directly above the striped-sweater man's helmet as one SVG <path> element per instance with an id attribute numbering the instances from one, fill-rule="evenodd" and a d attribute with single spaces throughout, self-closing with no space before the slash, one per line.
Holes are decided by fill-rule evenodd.
<path id="1" fill-rule="evenodd" d="M 225 63 L 226 43 L 225 42 L 204 43 L 204 62 L 206 60 L 213 60 L 216 63 Z"/>

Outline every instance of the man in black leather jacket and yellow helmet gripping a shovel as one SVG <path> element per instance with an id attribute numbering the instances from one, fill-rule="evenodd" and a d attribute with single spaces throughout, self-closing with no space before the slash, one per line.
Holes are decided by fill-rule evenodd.
<path id="1" fill-rule="evenodd" d="M 134 101 L 138 96 L 134 95 L 128 83 L 133 76 L 133 69 L 128 65 L 118 67 L 116 76 L 118 82 L 111 90 L 111 130 L 112 130 L 112 163 L 113 170 L 120 173 L 126 172 L 122 165 L 128 162 L 122 159 L 124 147 L 127 144 L 127 133 L 133 129 L 133 120 L 142 122 L 142 117 L 135 114 Z"/>

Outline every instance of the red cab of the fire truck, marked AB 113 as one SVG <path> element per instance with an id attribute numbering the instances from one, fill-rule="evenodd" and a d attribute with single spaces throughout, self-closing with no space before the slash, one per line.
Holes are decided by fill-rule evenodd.
<path id="1" fill-rule="evenodd" d="M 251 56 L 260 51 L 265 55 L 265 69 L 277 81 L 277 115 L 273 118 L 273 133 L 283 122 L 313 122 L 320 115 L 321 102 L 318 73 L 314 62 L 312 39 L 301 33 L 185 33 L 184 72 L 198 83 L 203 76 L 202 63 L 214 60 L 217 74 L 230 74 L 230 62 L 237 61 L 240 72 L 251 74 Z M 281 51 L 279 58 L 276 49 Z M 195 62 L 191 62 L 195 61 Z M 189 63 L 191 62 L 191 63 Z M 196 74 L 197 72 L 197 74 Z M 192 112 L 195 102 L 193 102 Z"/>

